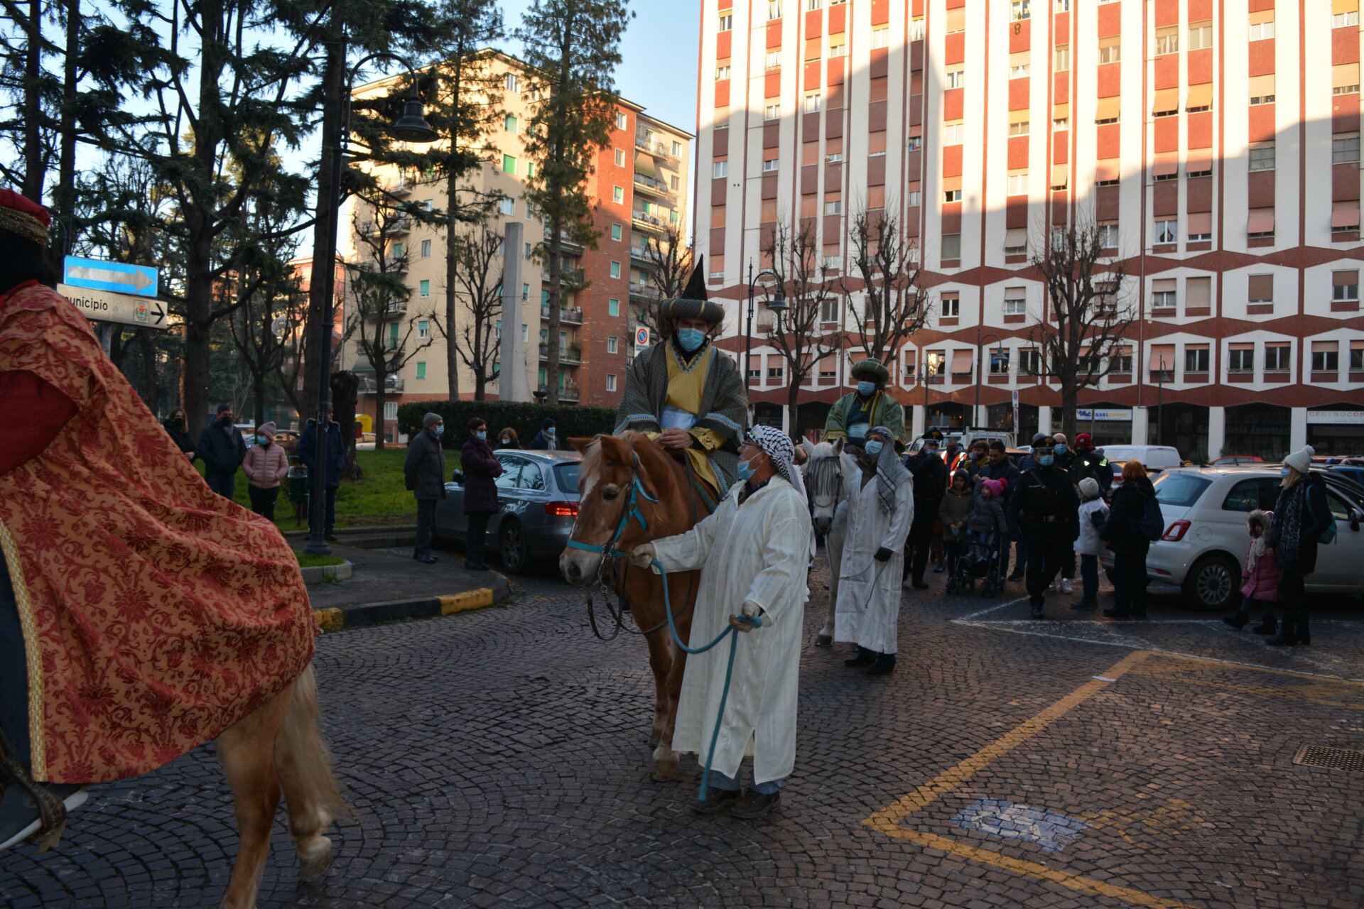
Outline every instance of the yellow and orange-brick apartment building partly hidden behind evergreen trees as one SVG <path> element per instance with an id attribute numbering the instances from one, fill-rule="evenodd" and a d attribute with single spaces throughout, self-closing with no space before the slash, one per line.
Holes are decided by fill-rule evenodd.
<path id="1" fill-rule="evenodd" d="M 548 337 L 550 285 L 548 268 L 535 255 L 546 237 L 543 219 L 525 198 L 525 187 L 533 176 L 535 162 L 525 151 L 525 129 L 533 113 L 535 98 L 528 86 L 525 65 L 507 55 L 487 50 L 481 59 L 501 86 L 501 116 L 496 127 L 484 136 L 486 162 L 483 168 L 461 183 L 471 191 L 501 196 L 490 226 L 503 236 L 506 226 L 520 222 L 522 243 L 518 249 L 503 243 L 501 255 L 521 259 L 521 333 L 527 383 L 532 391 L 546 391 L 546 364 L 548 345 L 559 346 L 559 401 L 614 407 L 625 388 L 625 369 L 634 357 L 634 319 L 630 300 L 653 296 L 649 282 L 649 263 L 644 256 L 648 237 L 662 237 L 668 225 L 686 225 L 687 168 L 692 153 L 692 134 L 648 116 L 641 105 L 622 99 L 615 114 L 611 143 L 597 155 L 595 173 L 589 177 L 588 192 L 596 200 L 593 224 L 599 232 L 597 248 L 566 247 L 565 271 L 581 270 L 585 290 L 565 292 L 559 312 L 558 338 Z M 356 95 L 390 91 L 391 80 L 376 82 L 356 89 Z M 390 192 L 404 200 L 415 200 L 427 209 L 445 209 L 446 181 L 424 179 L 423 174 L 400 173 L 398 169 L 374 170 Z M 462 191 L 462 189 L 461 189 Z M 375 410 L 374 379 L 361 380 L 360 410 L 374 416 L 389 437 L 400 435 L 394 427 L 398 403 L 409 401 L 445 401 L 449 398 L 445 320 L 446 240 L 442 228 L 431 228 L 415 219 L 396 219 L 379 224 L 367 219 L 352 200 L 342 213 L 340 253 L 348 262 L 371 262 L 371 244 L 356 236 L 360 230 L 382 230 L 386 236 L 385 258 L 394 264 L 412 290 L 406 304 L 390 308 L 382 319 L 366 327 L 368 338 L 391 348 L 404 348 L 406 357 L 397 375 L 386 382 L 382 418 Z M 494 264 L 502 268 L 502 262 Z M 578 281 L 581 283 L 581 281 Z M 352 307 L 352 311 L 355 308 Z M 462 333 L 471 319 L 464 297 L 453 333 Z M 496 337 L 513 330 L 496 319 Z M 357 373 L 370 372 L 372 365 L 360 352 L 357 333 L 344 349 L 344 364 Z M 498 369 L 513 368 L 496 363 Z M 488 386 L 488 397 L 496 399 L 498 382 Z M 473 398 L 472 372 L 460 367 L 460 397 Z"/>

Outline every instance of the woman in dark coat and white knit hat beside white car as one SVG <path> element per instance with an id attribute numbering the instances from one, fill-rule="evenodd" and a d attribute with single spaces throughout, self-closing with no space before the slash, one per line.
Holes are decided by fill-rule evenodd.
<path id="1" fill-rule="evenodd" d="M 1307 598 L 1304 586 L 1316 571 L 1316 545 L 1331 526 L 1331 510 L 1326 502 L 1326 484 L 1314 473 L 1312 455 L 1307 446 L 1284 458 L 1284 480 L 1264 551 L 1278 560 L 1279 631 L 1270 638 L 1273 645 L 1312 643 L 1307 627 Z"/>

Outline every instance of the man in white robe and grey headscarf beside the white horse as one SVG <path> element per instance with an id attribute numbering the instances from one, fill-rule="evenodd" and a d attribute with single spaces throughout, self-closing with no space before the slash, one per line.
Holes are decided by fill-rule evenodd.
<path id="1" fill-rule="evenodd" d="M 900 619 L 900 574 L 904 540 L 914 523 L 914 478 L 895 454 L 895 435 L 885 427 L 868 432 L 858 462 L 862 481 L 833 517 L 847 522 L 835 641 L 857 645 L 846 666 L 866 666 L 868 675 L 895 669 Z"/>

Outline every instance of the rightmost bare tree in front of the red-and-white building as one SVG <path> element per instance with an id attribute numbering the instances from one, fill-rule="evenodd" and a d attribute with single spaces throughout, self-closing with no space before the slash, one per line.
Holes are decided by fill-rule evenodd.
<path id="1" fill-rule="evenodd" d="M 1094 224 L 1054 228 L 1033 255 L 1046 282 L 1043 309 L 1030 330 L 1043 363 L 1061 386 L 1061 431 L 1075 437 L 1080 388 L 1093 388 L 1113 371 L 1116 348 L 1133 322 L 1131 304 L 1118 305 L 1125 277 L 1120 259 Z"/>

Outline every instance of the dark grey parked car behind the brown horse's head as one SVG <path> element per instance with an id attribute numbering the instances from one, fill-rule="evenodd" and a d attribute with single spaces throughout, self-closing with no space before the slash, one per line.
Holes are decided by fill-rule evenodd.
<path id="1" fill-rule="evenodd" d="M 521 451 L 505 448 L 492 455 L 502 462 L 496 478 L 501 508 L 488 521 L 488 548 L 502 556 L 509 574 L 527 574 L 537 560 L 558 559 L 578 517 L 577 451 Z M 464 514 L 464 474 L 454 472 L 445 484 L 445 499 L 435 506 L 435 533 L 464 541 L 469 529 Z"/>

